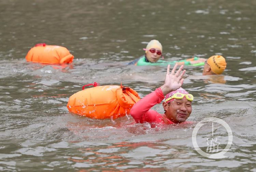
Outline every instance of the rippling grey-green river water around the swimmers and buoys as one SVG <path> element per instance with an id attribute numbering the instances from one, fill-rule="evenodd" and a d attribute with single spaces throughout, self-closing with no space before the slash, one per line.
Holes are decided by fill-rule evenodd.
<path id="1" fill-rule="evenodd" d="M 0 1 L 1 171 L 256 171 L 256 32 L 254 0 L 2 0 Z M 141 97 L 163 84 L 165 66 L 132 66 L 147 42 L 159 40 L 166 60 L 220 54 L 221 76 L 186 67 L 193 94 L 190 125 L 135 124 L 82 118 L 68 112 L 84 84 L 123 85 Z M 26 62 L 37 43 L 74 55 L 61 67 Z M 161 104 L 153 109 L 163 113 Z M 200 155 L 196 124 L 224 120 L 233 134 L 223 159 Z M 223 150 L 228 132 L 216 125 Z M 197 133 L 206 151 L 212 123 Z M 223 146 L 224 145 L 224 146 Z"/>

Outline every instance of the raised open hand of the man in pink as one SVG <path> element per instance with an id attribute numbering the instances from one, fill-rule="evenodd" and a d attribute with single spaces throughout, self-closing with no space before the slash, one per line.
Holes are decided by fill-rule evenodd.
<path id="1" fill-rule="evenodd" d="M 181 65 L 179 70 L 175 73 L 177 66 L 178 64 L 175 64 L 171 73 L 170 73 L 170 65 L 167 66 L 165 83 L 160 87 L 163 92 L 163 95 L 166 95 L 171 91 L 175 91 L 179 89 L 183 84 L 184 79 L 182 78 L 182 76 L 185 74 L 186 70 L 182 71 L 183 65 Z"/>

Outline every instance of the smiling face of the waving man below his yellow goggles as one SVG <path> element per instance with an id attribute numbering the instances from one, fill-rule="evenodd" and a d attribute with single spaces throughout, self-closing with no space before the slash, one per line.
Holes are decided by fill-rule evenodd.
<path id="1" fill-rule="evenodd" d="M 166 117 L 174 123 L 185 122 L 192 112 L 191 101 L 186 98 L 164 102 L 163 109 L 166 111 Z"/>

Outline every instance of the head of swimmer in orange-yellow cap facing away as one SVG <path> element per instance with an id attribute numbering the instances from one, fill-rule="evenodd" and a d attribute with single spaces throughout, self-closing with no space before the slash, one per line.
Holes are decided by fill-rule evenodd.
<path id="1" fill-rule="evenodd" d="M 226 69 L 227 63 L 224 57 L 215 55 L 205 61 L 203 75 L 219 75 Z"/>

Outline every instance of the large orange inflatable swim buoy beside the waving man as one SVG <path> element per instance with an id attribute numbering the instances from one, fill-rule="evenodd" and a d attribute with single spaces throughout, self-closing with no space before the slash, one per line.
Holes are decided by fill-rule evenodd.
<path id="1" fill-rule="evenodd" d="M 130 114 L 132 106 L 140 100 L 136 91 L 122 84 L 97 86 L 95 82 L 94 86 L 69 98 L 69 112 L 95 119 L 117 119 Z"/>

